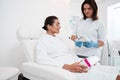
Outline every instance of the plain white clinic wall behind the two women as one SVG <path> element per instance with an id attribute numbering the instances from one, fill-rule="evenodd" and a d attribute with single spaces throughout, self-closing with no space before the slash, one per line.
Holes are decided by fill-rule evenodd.
<path id="1" fill-rule="evenodd" d="M 43 21 L 49 15 L 55 15 L 61 22 L 62 38 L 70 36 L 71 16 L 81 17 L 83 0 L 0 0 L 0 66 L 20 68 L 25 61 L 20 41 L 16 33 L 18 28 L 29 31 L 40 30 Z M 120 0 L 96 0 L 99 8 L 99 19 L 107 29 L 109 6 L 120 3 Z"/>

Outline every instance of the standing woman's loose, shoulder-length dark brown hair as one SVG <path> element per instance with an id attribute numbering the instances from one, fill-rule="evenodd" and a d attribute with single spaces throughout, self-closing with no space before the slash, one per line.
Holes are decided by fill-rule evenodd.
<path id="1" fill-rule="evenodd" d="M 89 4 L 93 9 L 92 20 L 93 21 L 97 20 L 98 19 L 98 16 L 97 16 L 98 7 L 97 7 L 97 4 L 96 4 L 95 0 L 85 0 L 82 3 L 81 10 L 82 10 L 82 14 L 83 14 L 83 19 L 87 18 L 87 16 L 84 13 L 84 5 L 85 4 Z"/>

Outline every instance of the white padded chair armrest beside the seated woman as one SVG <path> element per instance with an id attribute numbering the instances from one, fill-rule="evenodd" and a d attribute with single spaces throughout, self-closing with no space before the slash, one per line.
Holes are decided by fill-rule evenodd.
<path id="1" fill-rule="evenodd" d="M 70 71 L 34 62 L 23 63 L 22 71 L 44 80 L 77 80 L 77 76 Z"/>

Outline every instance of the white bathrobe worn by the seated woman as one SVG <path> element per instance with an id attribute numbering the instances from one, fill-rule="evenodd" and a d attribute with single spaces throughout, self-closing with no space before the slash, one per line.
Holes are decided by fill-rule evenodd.
<path id="1" fill-rule="evenodd" d="M 35 48 L 35 61 L 38 64 L 56 66 L 62 68 L 64 64 L 72 64 L 81 59 L 78 58 L 62 40 L 51 35 L 41 37 Z M 75 73 L 78 80 L 115 80 L 118 69 L 108 66 L 95 66 L 87 73 Z"/>

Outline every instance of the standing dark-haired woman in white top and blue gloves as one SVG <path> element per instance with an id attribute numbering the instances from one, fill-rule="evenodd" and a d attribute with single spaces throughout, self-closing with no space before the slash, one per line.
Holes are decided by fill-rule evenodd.
<path id="1" fill-rule="evenodd" d="M 83 18 L 73 26 L 71 39 L 75 41 L 75 52 L 79 57 L 99 55 L 97 50 L 104 45 L 105 31 L 103 25 L 98 21 L 97 4 L 94 0 L 85 0 L 81 10 Z M 85 41 L 81 41 L 82 39 Z"/>

